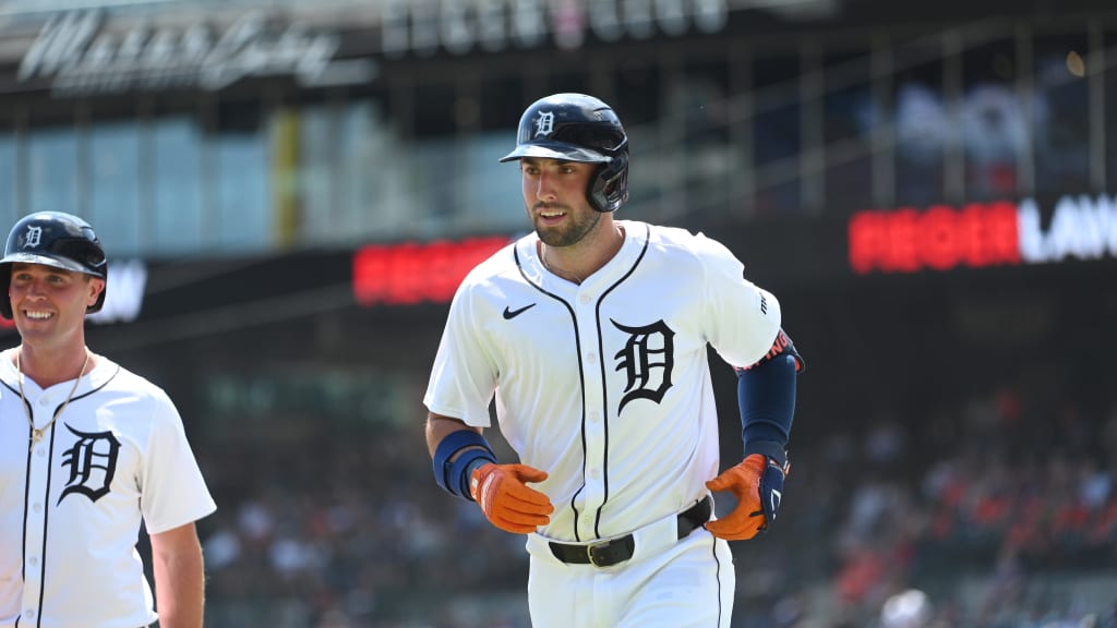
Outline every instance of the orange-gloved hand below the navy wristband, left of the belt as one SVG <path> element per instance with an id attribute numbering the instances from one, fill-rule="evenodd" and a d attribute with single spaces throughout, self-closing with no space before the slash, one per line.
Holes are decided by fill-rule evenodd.
<path id="1" fill-rule="evenodd" d="M 493 525 L 505 532 L 527 534 L 551 523 L 550 515 L 555 508 L 546 495 L 525 483 L 546 478 L 546 472 L 527 465 L 489 463 L 474 470 L 469 494 Z"/>

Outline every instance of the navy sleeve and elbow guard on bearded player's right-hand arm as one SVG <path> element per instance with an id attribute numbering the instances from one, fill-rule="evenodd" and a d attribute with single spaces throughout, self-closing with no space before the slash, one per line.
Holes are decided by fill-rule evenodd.
<path id="1" fill-rule="evenodd" d="M 745 456 L 763 454 L 781 467 L 795 416 L 795 380 L 806 368 L 794 343 L 780 330 L 772 349 L 755 364 L 736 369 Z"/>

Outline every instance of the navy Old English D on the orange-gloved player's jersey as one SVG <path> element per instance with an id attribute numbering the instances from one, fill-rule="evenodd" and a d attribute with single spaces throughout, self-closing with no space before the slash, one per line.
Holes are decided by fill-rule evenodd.
<path id="1" fill-rule="evenodd" d="M 613 355 L 617 370 L 628 374 L 624 397 L 617 413 L 624 405 L 636 399 L 648 399 L 659 403 L 667 389 L 671 388 L 671 371 L 675 369 L 675 332 L 663 321 L 656 321 L 642 327 L 630 327 L 610 318 L 618 330 L 629 334 L 624 349 Z"/>

